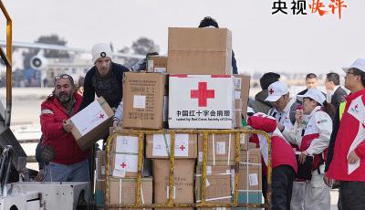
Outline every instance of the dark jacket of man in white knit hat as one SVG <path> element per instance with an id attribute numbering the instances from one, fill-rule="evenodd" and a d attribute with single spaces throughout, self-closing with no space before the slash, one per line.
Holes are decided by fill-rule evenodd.
<path id="1" fill-rule="evenodd" d="M 130 71 L 130 69 L 121 66 L 120 64 L 111 63 L 110 77 L 107 82 L 102 82 L 103 79 L 98 80 L 96 66 L 90 68 L 85 76 L 84 81 L 84 95 L 80 106 L 80 110 L 89 106 L 95 100 L 95 94 L 98 97 L 104 97 L 111 108 L 117 108 L 120 100 L 123 98 L 123 73 Z M 103 83 L 97 85 L 98 83 Z"/>

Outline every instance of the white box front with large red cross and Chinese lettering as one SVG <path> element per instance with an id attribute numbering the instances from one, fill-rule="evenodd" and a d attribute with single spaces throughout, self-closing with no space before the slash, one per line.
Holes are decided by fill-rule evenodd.
<path id="1" fill-rule="evenodd" d="M 170 75 L 170 129 L 234 129 L 235 78 Z"/>

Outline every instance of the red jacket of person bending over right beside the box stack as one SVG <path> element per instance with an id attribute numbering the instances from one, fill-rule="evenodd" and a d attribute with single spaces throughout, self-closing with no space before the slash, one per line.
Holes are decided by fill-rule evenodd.
<path id="1" fill-rule="evenodd" d="M 260 116 L 259 114 L 255 114 L 248 119 L 248 124 L 256 130 L 268 132 L 269 136 L 271 136 L 273 169 L 279 165 L 289 165 L 297 173 L 296 154 L 291 145 L 281 135 L 280 131 L 276 129 L 276 120 L 265 115 Z M 260 137 L 257 137 L 256 134 L 251 136 L 250 142 L 255 142 L 257 146 L 260 146 L 261 151 L 263 151 L 261 147 L 264 145 L 260 145 Z M 263 159 L 265 163 L 266 157 Z M 266 173 L 266 167 L 263 167 L 263 171 Z"/>

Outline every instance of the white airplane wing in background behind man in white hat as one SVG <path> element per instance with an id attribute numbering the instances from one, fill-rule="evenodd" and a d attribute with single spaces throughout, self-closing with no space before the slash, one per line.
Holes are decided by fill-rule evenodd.
<path id="1" fill-rule="evenodd" d="M 4 40 L 0 40 L 0 47 L 6 47 L 6 42 Z M 84 48 L 75 48 L 75 47 L 66 47 L 60 45 L 51 45 L 51 44 L 43 44 L 43 43 L 26 43 L 26 42 L 13 42 L 13 47 L 22 47 L 22 48 L 39 48 L 39 49 L 55 49 L 61 51 L 72 51 L 77 53 L 90 53 L 90 50 Z M 126 54 L 113 52 L 113 56 L 118 58 L 146 58 L 143 55 L 135 55 L 135 54 Z"/>

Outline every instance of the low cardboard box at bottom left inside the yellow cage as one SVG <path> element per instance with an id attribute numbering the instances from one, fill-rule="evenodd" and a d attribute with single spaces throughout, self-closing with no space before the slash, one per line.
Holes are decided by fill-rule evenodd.
<path id="1" fill-rule="evenodd" d="M 110 178 L 110 205 L 135 205 L 136 192 L 136 178 Z M 141 179 L 141 203 L 144 205 L 152 204 L 151 177 Z"/>

